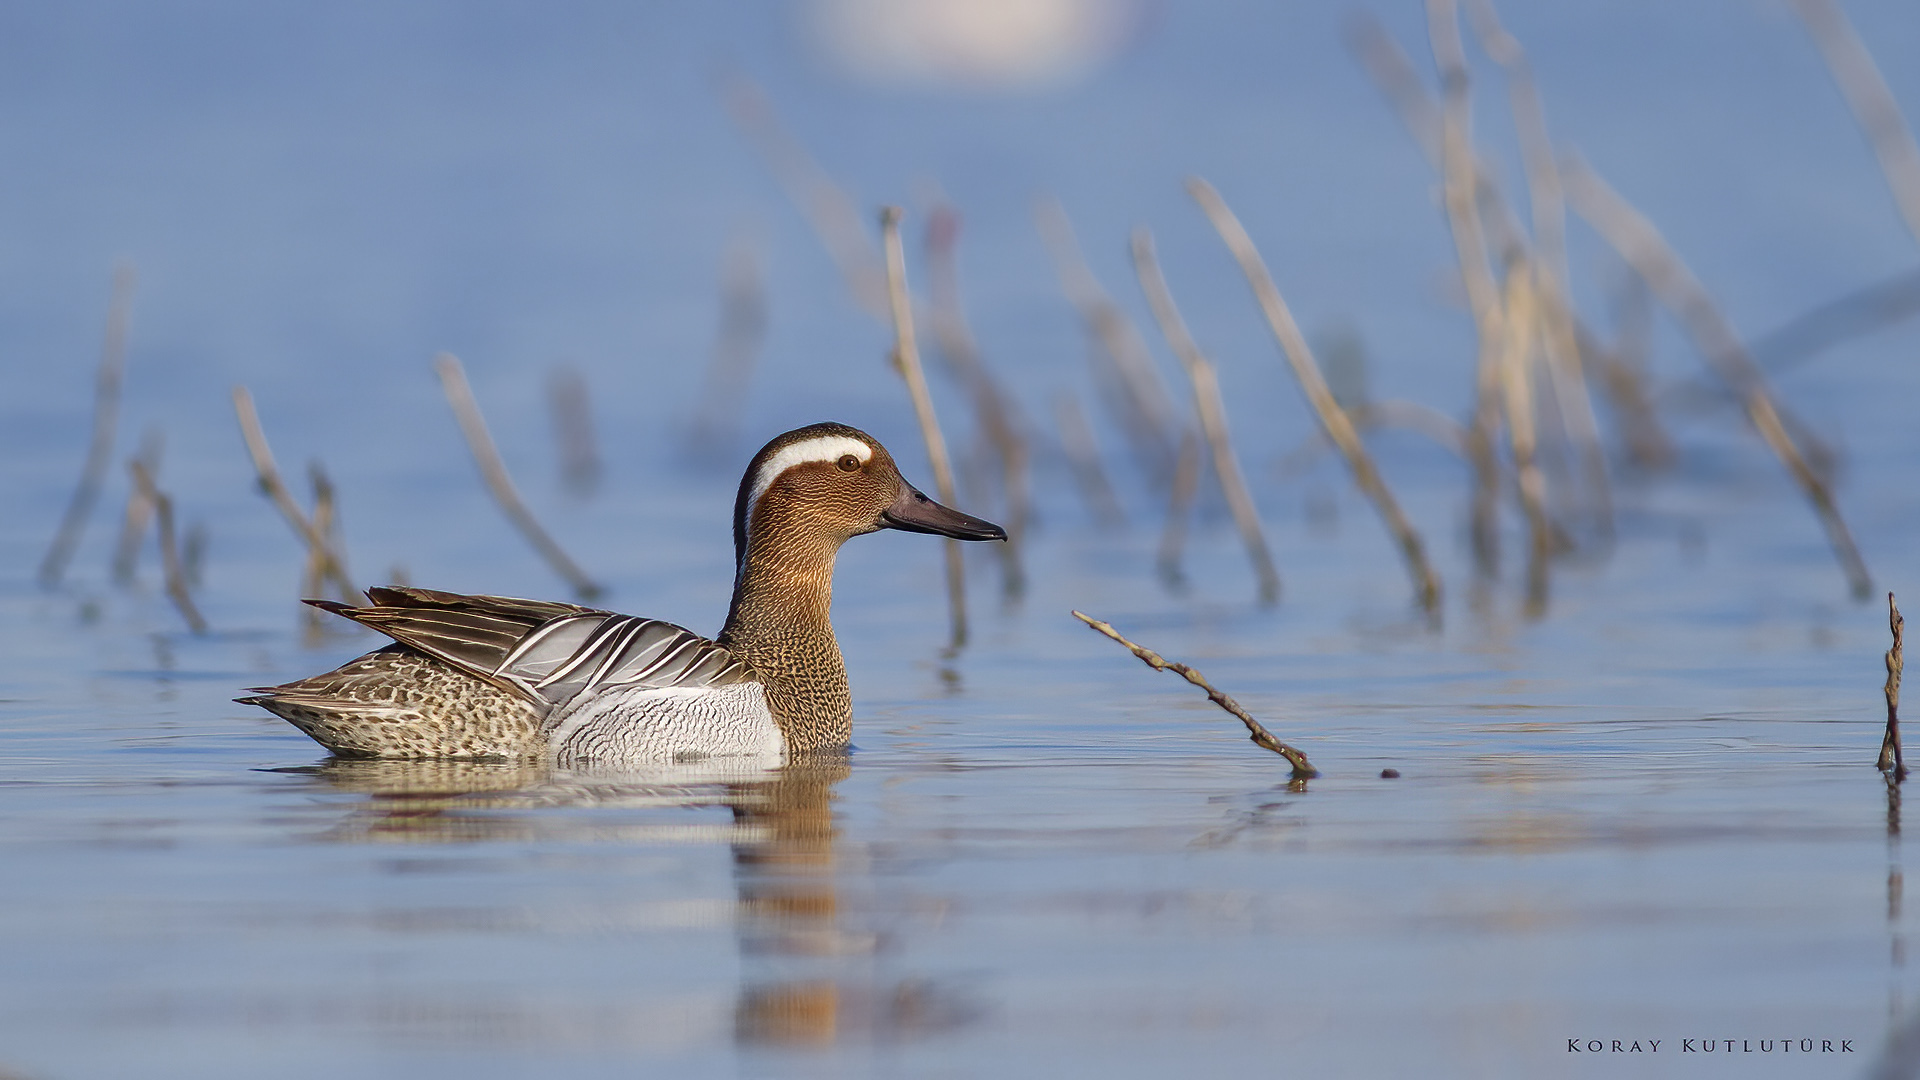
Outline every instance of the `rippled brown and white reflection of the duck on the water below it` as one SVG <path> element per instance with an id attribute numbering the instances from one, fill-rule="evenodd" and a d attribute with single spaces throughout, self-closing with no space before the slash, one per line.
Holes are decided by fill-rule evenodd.
<path id="1" fill-rule="evenodd" d="M 977 1003 L 925 978 L 879 978 L 893 938 L 839 899 L 833 786 L 845 753 L 776 769 L 710 759 L 647 771 L 582 773 L 543 763 L 330 759 L 286 769 L 365 796 L 321 840 L 336 844 L 687 844 L 732 849 L 741 984 L 732 1032 L 741 1045 L 826 1047 L 900 1042 L 964 1026 Z M 705 815 L 726 807 L 718 832 Z M 662 824 L 612 824 L 580 809 L 659 809 Z M 636 947 L 639 940 L 636 940 Z M 647 970 L 643 965 L 637 970 Z M 657 988 L 641 988 L 657 990 Z M 528 1034 L 540 1024 L 516 1024 Z"/>

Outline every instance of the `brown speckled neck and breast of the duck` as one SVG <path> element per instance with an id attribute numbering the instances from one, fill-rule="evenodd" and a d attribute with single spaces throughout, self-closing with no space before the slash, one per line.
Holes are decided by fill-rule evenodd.
<path id="1" fill-rule="evenodd" d="M 808 528 L 789 503 L 768 500 L 756 507 L 718 638 L 760 676 L 774 723 L 793 753 L 852 740 L 847 663 L 828 621 L 833 555 L 843 540 Z"/>

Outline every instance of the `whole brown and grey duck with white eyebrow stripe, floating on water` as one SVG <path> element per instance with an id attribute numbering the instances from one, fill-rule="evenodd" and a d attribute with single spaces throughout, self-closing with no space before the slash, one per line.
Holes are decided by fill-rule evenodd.
<path id="1" fill-rule="evenodd" d="M 914 490 L 870 434 L 789 430 L 733 500 L 733 601 L 716 640 L 545 600 L 372 588 L 367 607 L 309 600 L 394 644 L 259 705 L 342 757 L 551 757 L 561 765 L 795 755 L 852 736 L 828 605 L 849 536 L 902 528 L 1006 540 Z"/>

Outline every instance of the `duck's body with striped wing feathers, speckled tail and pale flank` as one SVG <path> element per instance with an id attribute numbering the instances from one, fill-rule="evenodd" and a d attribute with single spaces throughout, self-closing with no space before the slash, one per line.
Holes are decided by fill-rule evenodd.
<path id="1" fill-rule="evenodd" d="M 396 644 L 242 698 L 348 757 L 780 753 L 753 671 L 672 623 L 572 603 L 369 590 L 317 601 Z"/>

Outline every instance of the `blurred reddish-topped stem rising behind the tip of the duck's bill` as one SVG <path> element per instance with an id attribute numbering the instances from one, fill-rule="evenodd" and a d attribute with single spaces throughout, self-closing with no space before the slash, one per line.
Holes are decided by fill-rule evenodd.
<path id="1" fill-rule="evenodd" d="M 1027 571 L 1021 567 L 1021 542 L 1027 534 L 1031 496 L 1027 492 L 1027 440 L 1014 423 L 1014 405 L 1000 382 L 987 371 L 973 331 L 968 329 L 960 306 L 960 271 L 954 246 L 960 234 L 960 215 L 939 206 L 927 217 L 927 309 L 933 344 L 941 359 L 960 377 L 973 405 L 973 421 L 981 438 L 1000 465 L 1000 492 L 1006 498 L 1006 542 L 995 544 L 1000 557 L 1000 594 L 1020 600 L 1027 592 Z"/>

